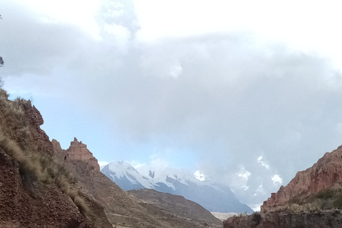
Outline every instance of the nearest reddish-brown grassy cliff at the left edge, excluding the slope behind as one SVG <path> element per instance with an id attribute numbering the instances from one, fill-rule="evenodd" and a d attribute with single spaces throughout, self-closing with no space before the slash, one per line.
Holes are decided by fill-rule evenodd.
<path id="1" fill-rule="evenodd" d="M 111 227 L 58 162 L 41 124 L 30 101 L 0 89 L 0 227 Z"/>

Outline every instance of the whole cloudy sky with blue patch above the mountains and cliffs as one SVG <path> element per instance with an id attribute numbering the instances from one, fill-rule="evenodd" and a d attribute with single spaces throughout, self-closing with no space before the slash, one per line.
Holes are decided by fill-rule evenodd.
<path id="1" fill-rule="evenodd" d="M 4 88 L 103 164 L 187 169 L 253 209 L 342 144 L 338 1 L 0 0 Z"/>

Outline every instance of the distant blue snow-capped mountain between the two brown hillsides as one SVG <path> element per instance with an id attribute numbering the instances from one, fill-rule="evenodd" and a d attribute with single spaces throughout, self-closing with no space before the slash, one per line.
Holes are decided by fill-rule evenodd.
<path id="1" fill-rule="evenodd" d="M 182 195 L 210 212 L 253 212 L 246 204 L 239 202 L 229 187 L 197 180 L 191 173 L 177 175 L 148 170 L 147 175 L 142 175 L 128 162 L 111 162 L 102 167 L 101 172 L 126 191 L 148 188 Z M 171 172 L 175 173 L 175 170 Z"/>

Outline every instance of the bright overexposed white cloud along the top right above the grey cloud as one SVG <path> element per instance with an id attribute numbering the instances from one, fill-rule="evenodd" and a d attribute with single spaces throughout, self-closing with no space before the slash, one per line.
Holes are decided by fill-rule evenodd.
<path id="1" fill-rule="evenodd" d="M 342 19 L 339 6 L 340 2 L 334 0 L 324 4 L 319 1 L 214 0 L 207 4 L 202 0 L 135 0 L 142 28 L 138 35 L 144 41 L 203 33 L 248 32 L 266 43 L 281 41 L 306 53 L 331 56 L 334 66 L 341 69 L 342 54 L 336 48 L 342 39 L 342 33 L 336 29 Z"/>

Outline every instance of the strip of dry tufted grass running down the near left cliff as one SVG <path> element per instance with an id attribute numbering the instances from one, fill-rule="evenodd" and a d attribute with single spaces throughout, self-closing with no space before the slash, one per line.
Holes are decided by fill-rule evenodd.
<path id="1" fill-rule="evenodd" d="M 9 95 L 1 85 L 3 82 L 0 78 L 0 148 L 18 162 L 23 180 L 56 184 L 61 192 L 73 199 L 80 212 L 86 212 L 87 204 L 75 187 L 76 177 L 65 164 L 61 164 L 53 155 L 28 147 L 33 135 L 23 105 L 31 105 L 31 102 L 20 97 L 9 100 Z"/>

